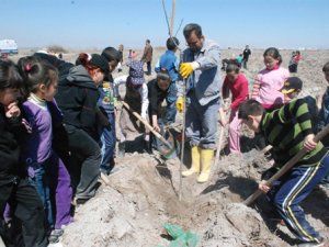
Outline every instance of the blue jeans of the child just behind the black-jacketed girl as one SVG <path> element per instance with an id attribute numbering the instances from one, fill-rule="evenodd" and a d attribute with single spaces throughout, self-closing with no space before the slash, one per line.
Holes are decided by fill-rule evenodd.
<path id="1" fill-rule="evenodd" d="M 107 113 L 107 119 L 111 126 L 103 128 L 103 132 L 101 134 L 102 160 L 101 160 L 100 168 L 101 170 L 110 172 L 113 169 L 113 167 L 110 166 L 110 161 L 114 157 L 115 143 L 116 143 L 114 113 Z"/>

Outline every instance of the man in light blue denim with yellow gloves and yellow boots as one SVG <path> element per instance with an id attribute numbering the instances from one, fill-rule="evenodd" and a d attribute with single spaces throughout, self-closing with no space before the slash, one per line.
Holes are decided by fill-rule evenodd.
<path id="1" fill-rule="evenodd" d="M 216 148 L 220 53 L 215 42 L 205 38 L 198 24 L 188 24 L 183 34 L 189 48 L 183 53 L 180 74 L 188 83 L 185 134 L 192 147 L 192 167 L 182 175 L 200 173 L 197 182 L 206 182 Z M 179 110 L 180 105 L 181 98 L 178 100 Z"/>

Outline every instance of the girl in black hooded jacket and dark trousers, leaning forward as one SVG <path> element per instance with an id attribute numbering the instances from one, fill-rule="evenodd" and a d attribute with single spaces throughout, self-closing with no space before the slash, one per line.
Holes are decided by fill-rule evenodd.
<path id="1" fill-rule="evenodd" d="M 78 59 L 80 65 L 70 68 L 69 74 L 59 80 L 56 94 L 68 134 L 71 153 L 68 168 L 76 189 L 73 201 L 77 204 L 94 197 L 98 187 L 101 162 L 101 150 L 95 141 L 98 87 L 109 74 L 107 60 L 101 55 L 80 54 Z"/>

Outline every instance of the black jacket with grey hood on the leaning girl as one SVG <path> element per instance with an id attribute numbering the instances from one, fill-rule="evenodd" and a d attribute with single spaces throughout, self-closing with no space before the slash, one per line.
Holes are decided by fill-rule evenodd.
<path id="1" fill-rule="evenodd" d="M 69 75 L 59 80 L 55 97 L 64 114 L 63 122 L 95 136 L 99 97 L 98 88 L 86 68 L 81 65 L 72 67 Z"/>

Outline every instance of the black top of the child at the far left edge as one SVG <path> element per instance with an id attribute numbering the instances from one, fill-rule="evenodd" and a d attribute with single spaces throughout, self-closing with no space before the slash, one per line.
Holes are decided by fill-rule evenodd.
<path id="1" fill-rule="evenodd" d="M 26 176 L 24 165 L 20 164 L 21 119 L 7 119 L 0 105 L 0 186 L 14 181 L 15 177 Z"/>

